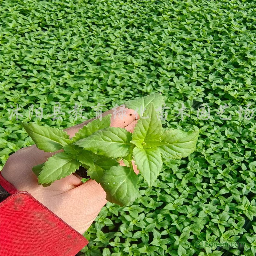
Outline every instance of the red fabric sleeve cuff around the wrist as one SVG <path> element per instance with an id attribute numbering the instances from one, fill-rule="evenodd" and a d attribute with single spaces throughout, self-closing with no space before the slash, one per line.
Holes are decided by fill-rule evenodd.
<path id="1" fill-rule="evenodd" d="M 1 256 L 74 256 L 88 244 L 75 229 L 61 220 L 28 192 L 18 191 L 0 172 Z"/>

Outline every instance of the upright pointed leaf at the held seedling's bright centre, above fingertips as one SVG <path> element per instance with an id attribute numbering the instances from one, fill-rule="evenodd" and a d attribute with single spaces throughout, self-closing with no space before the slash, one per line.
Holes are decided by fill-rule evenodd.
<path id="1" fill-rule="evenodd" d="M 139 143 L 141 140 L 161 140 L 162 135 L 163 132 L 161 120 L 157 118 L 154 105 L 150 103 L 148 109 L 138 120 L 138 123 L 134 128 L 132 141 L 138 141 Z"/>

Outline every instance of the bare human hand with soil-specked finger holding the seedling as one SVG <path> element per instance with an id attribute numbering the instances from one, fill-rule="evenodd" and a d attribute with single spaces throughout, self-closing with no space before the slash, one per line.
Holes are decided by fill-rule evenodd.
<path id="1" fill-rule="evenodd" d="M 110 126 L 125 128 L 129 132 L 133 132 L 137 124 L 136 116 L 138 115 L 132 109 L 125 108 L 125 110 L 126 113 L 123 118 L 111 116 Z M 113 110 L 108 110 L 102 116 L 112 113 Z M 65 131 L 70 137 L 73 137 L 80 128 L 94 119 L 84 121 Z M 38 185 L 32 167 L 44 163 L 47 158 L 60 151 L 48 153 L 36 148 L 36 145 L 21 148 L 7 159 L 1 173 L 4 179 L 15 188 L 30 193 L 60 219 L 83 234 L 91 226 L 101 208 L 107 203 L 106 193 L 95 180 L 90 179 L 82 183 L 81 177 L 77 174 L 71 174 L 64 179 L 56 180 L 46 188 Z M 120 164 L 124 165 L 122 161 L 120 161 Z M 138 174 L 139 171 L 136 165 L 134 162 L 132 164 L 134 171 Z"/>

